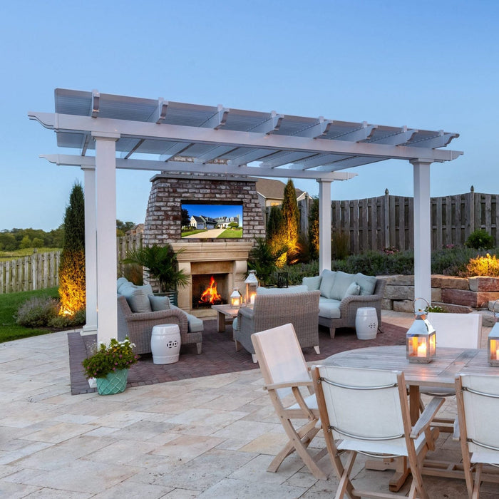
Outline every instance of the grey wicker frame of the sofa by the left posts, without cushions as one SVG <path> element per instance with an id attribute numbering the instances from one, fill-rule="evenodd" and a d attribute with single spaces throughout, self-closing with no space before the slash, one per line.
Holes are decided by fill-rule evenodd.
<path id="1" fill-rule="evenodd" d="M 126 298 L 118 296 L 118 339 L 121 341 L 128 336 L 135 343 L 135 354 L 150 353 L 150 336 L 153 326 L 158 324 L 178 324 L 182 345 L 195 343 L 197 353 L 201 353 L 202 332 L 188 332 L 185 312 L 175 307 L 158 312 L 133 313 Z"/>

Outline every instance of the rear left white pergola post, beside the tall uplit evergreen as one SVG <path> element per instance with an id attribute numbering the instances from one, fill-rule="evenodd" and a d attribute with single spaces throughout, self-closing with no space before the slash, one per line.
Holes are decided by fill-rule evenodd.
<path id="1" fill-rule="evenodd" d="M 97 235 L 96 235 L 96 169 L 81 168 L 85 190 L 85 289 L 86 324 L 81 334 L 97 331 Z"/>

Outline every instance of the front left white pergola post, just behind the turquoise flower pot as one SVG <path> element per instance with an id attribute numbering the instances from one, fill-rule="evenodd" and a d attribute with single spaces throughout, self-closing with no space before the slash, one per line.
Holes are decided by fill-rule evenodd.
<path id="1" fill-rule="evenodd" d="M 116 302 L 116 140 L 119 133 L 92 133 L 96 140 L 97 339 L 118 337 Z"/>

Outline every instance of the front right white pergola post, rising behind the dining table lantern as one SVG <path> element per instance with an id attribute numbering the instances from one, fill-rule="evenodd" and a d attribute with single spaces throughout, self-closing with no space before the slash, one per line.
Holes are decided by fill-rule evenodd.
<path id="1" fill-rule="evenodd" d="M 414 175 L 414 298 L 431 304 L 430 165 L 411 160 Z"/>

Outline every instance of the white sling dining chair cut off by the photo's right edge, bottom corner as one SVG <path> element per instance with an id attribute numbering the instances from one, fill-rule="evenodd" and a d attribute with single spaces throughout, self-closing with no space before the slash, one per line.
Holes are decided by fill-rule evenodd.
<path id="1" fill-rule="evenodd" d="M 499 376 L 458 375 L 456 401 L 468 496 L 478 499 L 483 464 L 499 465 Z"/>

